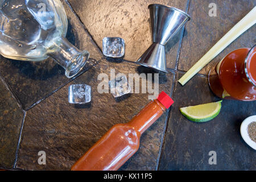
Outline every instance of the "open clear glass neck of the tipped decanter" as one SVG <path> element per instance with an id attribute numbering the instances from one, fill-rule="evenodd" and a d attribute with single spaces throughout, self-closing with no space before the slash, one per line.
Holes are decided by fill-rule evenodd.
<path id="1" fill-rule="evenodd" d="M 65 69 L 65 76 L 71 78 L 81 71 L 89 59 L 88 51 L 80 51 L 66 38 L 55 38 L 47 49 L 47 56 Z"/>

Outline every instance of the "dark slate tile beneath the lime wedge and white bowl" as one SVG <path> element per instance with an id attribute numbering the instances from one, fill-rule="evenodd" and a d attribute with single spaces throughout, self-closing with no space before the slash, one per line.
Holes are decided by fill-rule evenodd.
<path id="1" fill-rule="evenodd" d="M 218 100 L 205 77 L 195 76 L 184 87 L 176 82 L 160 170 L 255 170 L 255 151 L 240 134 L 243 119 L 256 114 L 255 101 L 224 100 L 220 114 L 205 123 L 191 122 L 179 111 L 180 107 Z M 217 153 L 216 165 L 208 163 L 210 151 Z"/>

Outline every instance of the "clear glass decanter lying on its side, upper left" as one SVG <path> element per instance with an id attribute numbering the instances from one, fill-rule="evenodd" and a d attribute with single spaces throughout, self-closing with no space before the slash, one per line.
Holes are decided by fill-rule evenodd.
<path id="1" fill-rule="evenodd" d="M 0 0 L 0 53 L 9 59 L 52 57 L 71 78 L 89 58 L 65 38 L 68 20 L 59 0 Z"/>

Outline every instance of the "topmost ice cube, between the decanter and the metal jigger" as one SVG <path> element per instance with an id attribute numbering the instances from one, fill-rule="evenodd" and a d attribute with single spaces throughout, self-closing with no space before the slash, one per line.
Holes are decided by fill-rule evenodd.
<path id="1" fill-rule="evenodd" d="M 122 57 L 125 55 L 125 40 L 122 38 L 104 38 L 102 40 L 102 52 L 108 57 Z"/>

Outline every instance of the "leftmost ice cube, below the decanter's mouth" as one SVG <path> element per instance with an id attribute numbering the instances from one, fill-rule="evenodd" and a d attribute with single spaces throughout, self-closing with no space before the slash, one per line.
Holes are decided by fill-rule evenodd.
<path id="1" fill-rule="evenodd" d="M 70 85 L 68 88 L 68 102 L 71 104 L 86 104 L 91 100 L 91 92 L 89 85 Z"/>

